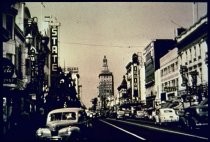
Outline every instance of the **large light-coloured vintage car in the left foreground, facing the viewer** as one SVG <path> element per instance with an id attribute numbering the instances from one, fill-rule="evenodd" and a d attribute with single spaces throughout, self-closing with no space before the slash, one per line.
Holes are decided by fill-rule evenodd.
<path id="1" fill-rule="evenodd" d="M 82 108 L 60 108 L 47 115 L 46 127 L 36 131 L 41 141 L 76 141 L 84 138 L 91 127 L 87 114 Z"/>

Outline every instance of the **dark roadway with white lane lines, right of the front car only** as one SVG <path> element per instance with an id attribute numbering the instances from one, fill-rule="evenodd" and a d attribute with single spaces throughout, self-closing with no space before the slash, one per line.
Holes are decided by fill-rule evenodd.
<path id="1" fill-rule="evenodd" d="M 206 136 L 204 136 L 206 135 Z M 171 130 L 166 127 L 134 121 L 105 119 L 95 122 L 90 133 L 91 142 L 120 142 L 120 141 L 208 141 L 207 133 L 197 135 L 194 132 Z"/>

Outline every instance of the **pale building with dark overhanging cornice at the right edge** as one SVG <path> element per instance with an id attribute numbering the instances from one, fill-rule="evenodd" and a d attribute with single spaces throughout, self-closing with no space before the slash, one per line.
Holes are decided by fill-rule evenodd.
<path id="1" fill-rule="evenodd" d="M 180 64 L 179 95 L 198 103 L 208 91 L 208 18 L 202 17 L 176 37 Z"/>

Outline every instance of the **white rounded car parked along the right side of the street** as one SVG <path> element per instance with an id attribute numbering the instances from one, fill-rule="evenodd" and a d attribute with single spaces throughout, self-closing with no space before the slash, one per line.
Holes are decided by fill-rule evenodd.
<path id="1" fill-rule="evenodd" d="M 155 123 L 158 124 L 178 122 L 179 116 L 172 108 L 160 108 L 156 110 L 156 114 L 154 115 L 154 120 Z"/>

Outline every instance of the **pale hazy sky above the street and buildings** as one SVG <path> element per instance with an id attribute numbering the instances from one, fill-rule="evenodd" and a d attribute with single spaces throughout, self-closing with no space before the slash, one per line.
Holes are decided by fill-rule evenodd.
<path id="1" fill-rule="evenodd" d="M 114 75 L 114 92 L 126 74 L 133 53 L 143 52 L 154 39 L 174 39 L 179 27 L 189 28 L 206 15 L 207 3 L 190 2 L 27 2 L 44 31 L 44 16 L 59 22 L 59 65 L 78 67 L 81 98 L 91 106 L 103 57 Z M 193 14 L 194 13 L 194 14 Z"/>

